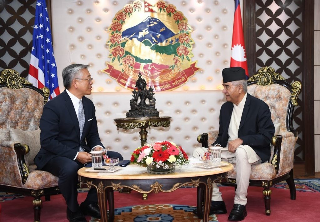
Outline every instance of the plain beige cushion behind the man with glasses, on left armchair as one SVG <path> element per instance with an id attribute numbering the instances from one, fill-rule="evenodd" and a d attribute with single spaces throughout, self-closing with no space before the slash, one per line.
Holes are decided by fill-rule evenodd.
<path id="1" fill-rule="evenodd" d="M 21 144 L 27 144 L 29 146 L 29 152 L 26 154 L 26 162 L 28 162 L 29 165 L 33 165 L 33 159 L 41 148 L 40 130 L 24 131 L 10 128 L 9 132 L 12 141 L 17 141 Z"/>

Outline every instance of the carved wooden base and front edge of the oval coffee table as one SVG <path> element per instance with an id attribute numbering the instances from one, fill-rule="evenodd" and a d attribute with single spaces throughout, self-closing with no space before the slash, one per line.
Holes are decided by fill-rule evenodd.
<path id="1" fill-rule="evenodd" d="M 114 190 L 127 187 L 143 194 L 151 192 L 167 193 L 175 191 L 185 185 L 197 187 L 198 217 L 203 218 L 204 222 L 208 222 L 212 197 L 212 183 L 226 182 L 228 180 L 228 171 L 232 168 L 233 166 L 229 164 L 228 166 L 221 167 L 222 172 L 211 169 L 201 172 L 176 172 L 166 175 L 149 175 L 145 173 L 136 175 L 108 174 L 98 176 L 98 173 L 85 172 L 85 168 L 83 167 L 78 171 L 78 174 L 81 176 L 82 187 L 95 187 L 97 189 L 102 222 L 114 221 Z M 200 193 L 202 192 L 204 194 L 204 211 L 202 211 L 201 206 L 202 196 Z M 109 219 L 107 200 L 109 205 Z"/>

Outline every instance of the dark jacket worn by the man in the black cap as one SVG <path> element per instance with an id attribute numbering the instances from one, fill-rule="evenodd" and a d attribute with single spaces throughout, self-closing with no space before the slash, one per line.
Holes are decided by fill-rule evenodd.
<path id="1" fill-rule="evenodd" d="M 222 105 L 219 134 L 212 145 L 219 143 L 222 147 L 227 146 L 232 111 L 233 103 L 226 102 Z M 265 162 L 270 158 L 270 143 L 274 133 L 275 127 L 268 105 L 248 93 L 241 116 L 238 138 L 243 140 L 243 145 L 252 147 L 262 162 Z"/>

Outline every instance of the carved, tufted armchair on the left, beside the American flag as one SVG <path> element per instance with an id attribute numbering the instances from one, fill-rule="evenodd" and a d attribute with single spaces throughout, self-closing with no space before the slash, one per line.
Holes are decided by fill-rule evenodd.
<path id="1" fill-rule="evenodd" d="M 60 193 L 58 177 L 36 170 L 40 149 L 39 121 L 49 89 L 37 89 L 6 69 L 0 73 L 0 191 L 33 196 L 34 220 L 40 221 L 45 196 Z"/>

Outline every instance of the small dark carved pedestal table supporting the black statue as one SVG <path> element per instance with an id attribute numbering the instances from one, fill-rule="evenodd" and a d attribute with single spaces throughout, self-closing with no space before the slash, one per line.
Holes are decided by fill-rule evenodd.
<path id="1" fill-rule="evenodd" d="M 116 122 L 117 129 L 132 130 L 134 128 L 140 128 L 141 146 L 144 146 L 147 143 L 148 131 L 146 129 L 150 129 L 151 126 L 169 127 L 170 118 L 171 116 L 129 117 L 114 119 L 114 121 Z"/>

